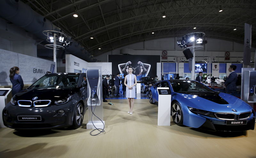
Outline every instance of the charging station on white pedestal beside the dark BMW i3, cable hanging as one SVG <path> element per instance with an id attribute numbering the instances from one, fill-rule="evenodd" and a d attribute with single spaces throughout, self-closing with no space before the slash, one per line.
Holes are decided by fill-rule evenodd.
<path id="1" fill-rule="evenodd" d="M 102 77 L 101 67 L 93 67 L 98 69 L 90 69 L 86 71 L 87 91 L 88 91 L 88 123 L 87 129 L 104 129 L 105 121 L 103 121 L 102 106 Z"/>

